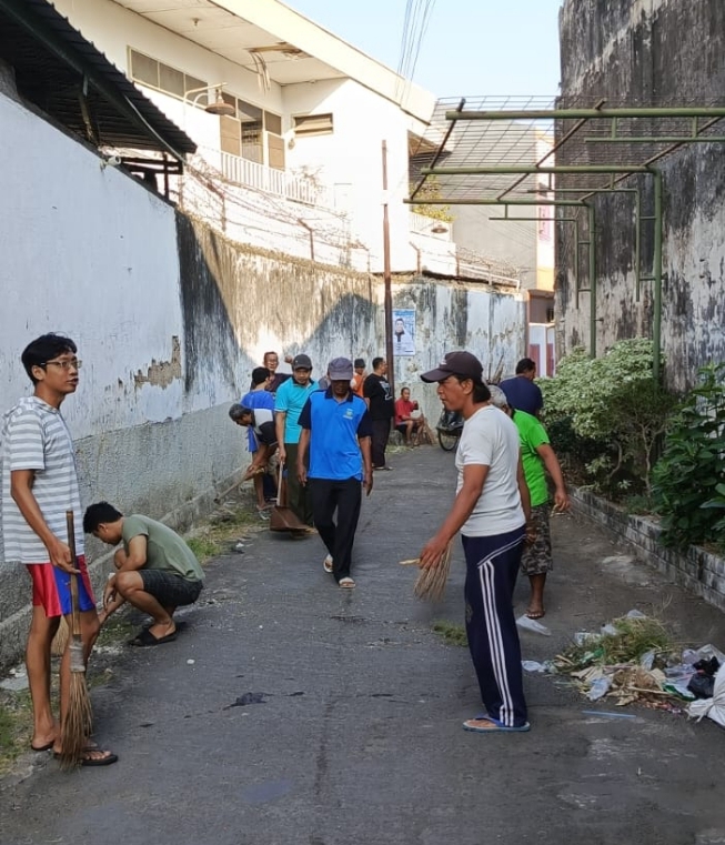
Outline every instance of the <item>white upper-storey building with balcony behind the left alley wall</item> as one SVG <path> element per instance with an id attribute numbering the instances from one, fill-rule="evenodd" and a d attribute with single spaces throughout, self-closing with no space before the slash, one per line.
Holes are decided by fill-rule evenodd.
<path id="1" fill-rule="evenodd" d="M 427 91 L 279 0 L 53 4 L 199 144 L 184 210 L 233 240 L 380 272 L 387 201 L 392 271 L 455 273 L 450 228 L 403 203 Z M 218 100 L 229 114 L 207 111 Z"/>

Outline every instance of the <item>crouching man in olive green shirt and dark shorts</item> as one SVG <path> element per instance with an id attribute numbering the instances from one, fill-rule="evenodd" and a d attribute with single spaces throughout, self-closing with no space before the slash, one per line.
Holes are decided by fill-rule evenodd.
<path id="1" fill-rule="evenodd" d="M 128 602 L 153 618 L 153 624 L 131 641 L 132 645 L 160 645 L 175 640 L 174 611 L 199 598 L 204 577 L 182 537 L 148 516 L 123 516 L 108 502 L 98 502 L 85 511 L 83 531 L 109 545 L 123 542 L 113 555 L 118 572 L 105 584 L 100 623 Z"/>

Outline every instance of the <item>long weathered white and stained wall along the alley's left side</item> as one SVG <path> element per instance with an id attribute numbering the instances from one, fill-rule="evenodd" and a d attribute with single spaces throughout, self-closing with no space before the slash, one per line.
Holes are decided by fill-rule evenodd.
<path id="1" fill-rule="evenodd" d="M 304 351 L 320 375 L 384 349 L 379 279 L 228 241 L 3 94 L 0 124 L 0 411 L 32 390 L 30 339 L 78 342 L 63 414 L 84 503 L 190 525 L 245 463 L 226 410 L 265 350 Z M 459 346 L 499 355 L 523 330 L 523 304 L 486 285 L 409 280 L 396 298 L 420 303 L 417 372 Z M 98 584 L 105 549 L 87 551 Z M 28 584 L 0 562 L 0 665 L 22 650 Z"/>

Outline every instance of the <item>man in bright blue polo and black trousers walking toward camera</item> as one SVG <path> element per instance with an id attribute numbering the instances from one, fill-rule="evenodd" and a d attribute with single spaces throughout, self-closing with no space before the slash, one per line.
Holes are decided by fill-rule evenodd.
<path id="1" fill-rule="evenodd" d="M 324 570 L 332 573 L 339 586 L 349 590 L 355 586 L 350 566 L 362 487 L 367 495 L 373 489 L 372 425 L 364 400 L 350 388 L 352 361 L 335 358 L 329 374 L 328 390 L 312 393 L 300 414 L 298 477 L 301 484 L 309 481 L 314 524 L 329 552 Z"/>

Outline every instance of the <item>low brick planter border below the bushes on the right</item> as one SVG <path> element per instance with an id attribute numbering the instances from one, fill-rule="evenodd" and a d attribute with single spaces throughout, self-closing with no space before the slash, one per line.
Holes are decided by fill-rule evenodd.
<path id="1" fill-rule="evenodd" d="M 725 611 L 725 560 L 699 546 L 691 546 L 683 553 L 665 549 L 655 521 L 630 515 L 586 490 L 573 491 L 572 499 L 576 511 L 611 531 L 633 550 L 638 560 Z"/>

